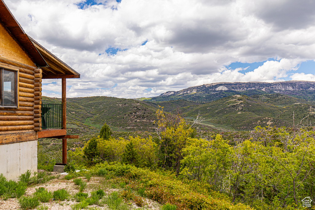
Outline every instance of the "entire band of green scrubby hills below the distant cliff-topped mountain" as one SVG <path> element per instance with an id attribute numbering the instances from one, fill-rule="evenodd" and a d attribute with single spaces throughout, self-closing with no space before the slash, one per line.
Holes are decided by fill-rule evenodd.
<path id="1" fill-rule="evenodd" d="M 43 102 L 60 99 L 43 97 Z M 312 102 L 281 94 L 254 96 L 234 95 L 208 103 L 185 100 L 143 102 L 106 96 L 67 98 L 67 129 L 71 134 L 95 134 L 107 123 L 114 131 L 153 131 L 155 110 L 158 105 L 166 112 L 177 108 L 186 120 L 193 120 L 198 113 L 202 125 L 228 130 L 250 130 L 257 125 L 295 125 L 308 114 L 304 123 L 314 122 Z M 206 127 L 205 127 L 206 128 Z"/>

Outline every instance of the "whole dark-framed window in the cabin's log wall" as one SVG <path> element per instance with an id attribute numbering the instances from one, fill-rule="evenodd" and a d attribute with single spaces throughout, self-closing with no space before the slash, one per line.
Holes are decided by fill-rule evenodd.
<path id="1" fill-rule="evenodd" d="M 17 107 L 17 71 L 0 68 L 0 106 Z"/>

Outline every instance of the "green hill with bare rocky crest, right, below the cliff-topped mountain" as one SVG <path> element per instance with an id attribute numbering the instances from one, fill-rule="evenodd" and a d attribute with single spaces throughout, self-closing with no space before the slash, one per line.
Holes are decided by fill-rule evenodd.
<path id="1" fill-rule="evenodd" d="M 234 95 L 198 106 L 183 107 L 183 116 L 192 119 L 200 115 L 203 123 L 237 130 L 249 130 L 257 125 L 295 125 L 308 114 L 308 123 L 315 121 L 312 104 L 281 94 L 256 95 L 253 97 Z M 303 121 L 307 123 L 306 120 Z"/>

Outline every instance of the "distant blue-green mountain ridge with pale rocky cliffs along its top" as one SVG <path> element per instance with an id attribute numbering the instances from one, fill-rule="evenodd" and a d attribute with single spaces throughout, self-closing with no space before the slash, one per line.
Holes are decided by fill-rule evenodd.
<path id="1" fill-rule="evenodd" d="M 192 86 L 178 91 L 167 91 L 159 96 L 144 101 L 190 100 L 209 102 L 232 95 L 259 95 L 280 93 L 288 96 L 315 101 L 315 82 L 283 81 L 283 82 L 220 82 Z"/>

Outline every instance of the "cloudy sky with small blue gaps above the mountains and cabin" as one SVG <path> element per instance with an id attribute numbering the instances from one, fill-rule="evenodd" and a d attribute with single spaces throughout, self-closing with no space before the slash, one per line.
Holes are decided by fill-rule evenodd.
<path id="1" fill-rule="evenodd" d="M 315 81 L 312 0 L 4 0 L 81 74 L 67 97 L 158 96 L 216 82 Z M 61 79 L 43 80 L 61 97 Z"/>

